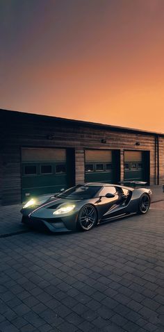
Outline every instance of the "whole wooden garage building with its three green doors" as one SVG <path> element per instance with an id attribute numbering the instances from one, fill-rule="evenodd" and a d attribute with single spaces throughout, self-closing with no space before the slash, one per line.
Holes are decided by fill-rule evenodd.
<path id="1" fill-rule="evenodd" d="M 164 134 L 0 110 L 0 204 L 77 183 L 164 183 Z"/>

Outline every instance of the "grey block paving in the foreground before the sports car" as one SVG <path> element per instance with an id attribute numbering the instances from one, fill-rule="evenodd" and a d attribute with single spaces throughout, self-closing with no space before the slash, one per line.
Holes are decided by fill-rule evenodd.
<path id="1" fill-rule="evenodd" d="M 163 332 L 164 210 L 156 204 L 87 233 L 21 225 L 28 233 L 0 238 L 0 331 Z"/>

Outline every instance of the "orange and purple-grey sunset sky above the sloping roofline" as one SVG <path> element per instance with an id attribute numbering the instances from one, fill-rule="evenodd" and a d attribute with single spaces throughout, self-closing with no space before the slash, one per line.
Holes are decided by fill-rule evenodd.
<path id="1" fill-rule="evenodd" d="M 164 133 L 163 0 L 0 0 L 0 108 Z"/>

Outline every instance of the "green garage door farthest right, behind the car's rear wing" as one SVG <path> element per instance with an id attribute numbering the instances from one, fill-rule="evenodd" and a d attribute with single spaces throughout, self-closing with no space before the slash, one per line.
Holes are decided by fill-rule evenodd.
<path id="1" fill-rule="evenodd" d="M 124 151 L 124 180 L 149 183 L 149 151 Z"/>

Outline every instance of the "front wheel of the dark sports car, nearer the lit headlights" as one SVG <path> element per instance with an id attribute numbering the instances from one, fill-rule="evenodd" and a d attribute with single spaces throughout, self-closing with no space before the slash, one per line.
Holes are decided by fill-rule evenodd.
<path id="1" fill-rule="evenodd" d="M 97 222 L 97 212 L 94 206 L 87 204 L 81 208 L 77 220 L 77 228 L 89 231 Z"/>

